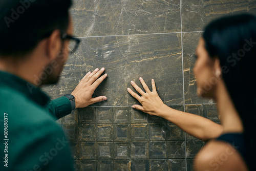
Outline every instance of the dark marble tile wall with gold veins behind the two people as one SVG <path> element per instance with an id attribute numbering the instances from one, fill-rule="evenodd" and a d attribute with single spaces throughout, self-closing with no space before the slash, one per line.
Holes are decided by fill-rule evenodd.
<path id="1" fill-rule="evenodd" d="M 212 100 L 196 96 L 193 54 L 204 26 L 226 14 L 256 14 L 255 0 L 74 0 L 74 35 L 82 42 L 51 98 L 70 94 L 89 71 L 108 78 L 94 96 L 107 101 L 59 119 L 70 140 L 75 170 L 193 170 L 204 142 L 173 123 L 131 108 L 127 93 L 139 77 L 171 108 L 219 122 Z M 151 86 L 148 85 L 150 88 Z"/>

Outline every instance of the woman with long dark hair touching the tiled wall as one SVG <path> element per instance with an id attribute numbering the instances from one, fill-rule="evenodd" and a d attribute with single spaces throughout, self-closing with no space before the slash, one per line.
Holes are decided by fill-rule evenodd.
<path id="1" fill-rule="evenodd" d="M 157 115 L 186 133 L 207 141 L 194 161 L 195 170 L 256 170 L 256 17 L 250 14 L 226 16 L 211 22 L 196 49 L 194 74 L 197 94 L 215 100 L 221 125 L 204 117 L 169 108 L 157 94 L 134 81 L 127 91 L 142 105 L 133 108 Z M 210 82 L 210 86 L 206 82 Z"/>

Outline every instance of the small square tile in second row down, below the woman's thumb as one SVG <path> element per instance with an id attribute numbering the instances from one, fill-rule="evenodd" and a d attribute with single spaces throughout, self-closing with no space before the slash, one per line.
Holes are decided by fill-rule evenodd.
<path id="1" fill-rule="evenodd" d="M 131 124 L 131 140 L 148 140 L 148 124 Z"/>

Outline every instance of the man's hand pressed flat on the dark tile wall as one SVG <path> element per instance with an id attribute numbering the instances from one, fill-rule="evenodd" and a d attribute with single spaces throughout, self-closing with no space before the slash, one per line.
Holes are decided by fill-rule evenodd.
<path id="1" fill-rule="evenodd" d="M 92 73 L 87 73 L 78 83 L 75 90 L 71 93 L 75 97 L 76 108 L 85 108 L 90 104 L 106 100 L 105 96 L 92 98 L 95 89 L 107 76 L 107 74 L 104 74 L 99 78 L 104 70 L 104 68 L 101 70 L 97 68 Z"/>

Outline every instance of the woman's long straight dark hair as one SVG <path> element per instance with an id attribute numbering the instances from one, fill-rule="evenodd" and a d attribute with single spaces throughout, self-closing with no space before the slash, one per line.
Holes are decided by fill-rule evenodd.
<path id="1" fill-rule="evenodd" d="M 256 170 L 256 17 L 225 16 L 205 27 L 210 57 L 220 59 L 223 79 L 244 126 L 249 170 Z"/>

